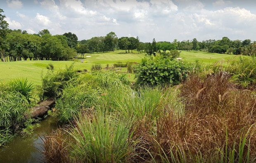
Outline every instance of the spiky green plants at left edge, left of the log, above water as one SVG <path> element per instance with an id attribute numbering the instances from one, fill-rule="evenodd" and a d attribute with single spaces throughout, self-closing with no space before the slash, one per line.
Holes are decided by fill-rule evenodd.
<path id="1" fill-rule="evenodd" d="M 0 84 L 0 146 L 9 142 L 18 128 L 24 127 L 24 114 L 34 105 L 30 101 L 32 90 L 28 80 Z"/>

